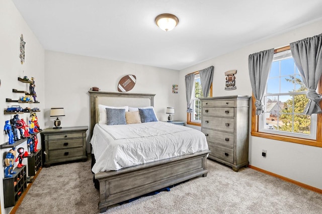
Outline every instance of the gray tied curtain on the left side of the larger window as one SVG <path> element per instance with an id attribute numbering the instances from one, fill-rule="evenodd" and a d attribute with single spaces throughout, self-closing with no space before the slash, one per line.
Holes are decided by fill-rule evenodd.
<path id="1" fill-rule="evenodd" d="M 249 55 L 248 69 L 250 72 L 253 95 L 256 99 L 256 115 L 261 115 L 263 110 L 262 98 L 265 92 L 268 74 L 273 62 L 274 48 Z"/>

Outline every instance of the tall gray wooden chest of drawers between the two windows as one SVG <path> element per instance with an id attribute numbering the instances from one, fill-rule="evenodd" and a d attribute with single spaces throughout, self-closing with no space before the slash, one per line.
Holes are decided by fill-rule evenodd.
<path id="1" fill-rule="evenodd" d="M 201 131 L 206 135 L 209 158 L 231 166 L 247 166 L 250 96 L 200 98 Z"/>

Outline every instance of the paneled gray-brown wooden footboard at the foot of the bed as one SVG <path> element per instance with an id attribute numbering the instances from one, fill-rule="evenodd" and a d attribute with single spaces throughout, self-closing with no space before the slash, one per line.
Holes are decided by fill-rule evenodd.
<path id="1" fill-rule="evenodd" d="M 100 183 L 100 212 L 106 211 L 110 205 L 194 177 L 207 176 L 206 159 L 209 152 L 206 150 L 95 174 L 95 178 Z"/>

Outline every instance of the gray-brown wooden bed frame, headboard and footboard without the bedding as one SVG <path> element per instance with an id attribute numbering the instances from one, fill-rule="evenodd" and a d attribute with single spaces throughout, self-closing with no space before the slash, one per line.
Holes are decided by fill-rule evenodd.
<path id="1" fill-rule="evenodd" d="M 98 121 L 98 104 L 109 106 L 143 107 L 154 104 L 155 94 L 117 93 L 89 91 L 91 105 L 90 135 Z M 137 166 L 95 174 L 100 185 L 100 212 L 108 206 L 143 194 L 172 186 L 194 177 L 206 177 L 207 154 L 205 150 L 195 154 L 168 158 Z"/>

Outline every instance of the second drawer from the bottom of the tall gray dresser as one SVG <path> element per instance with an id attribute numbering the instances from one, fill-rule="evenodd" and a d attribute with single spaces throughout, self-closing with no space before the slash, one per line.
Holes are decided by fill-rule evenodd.
<path id="1" fill-rule="evenodd" d="M 233 143 L 234 143 L 233 133 L 220 132 L 220 131 L 204 129 L 204 128 L 202 128 L 201 131 L 206 135 L 207 141 L 211 141 L 223 146 L 233 148 Z"/>

